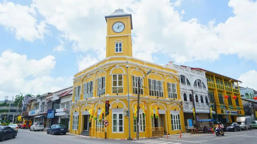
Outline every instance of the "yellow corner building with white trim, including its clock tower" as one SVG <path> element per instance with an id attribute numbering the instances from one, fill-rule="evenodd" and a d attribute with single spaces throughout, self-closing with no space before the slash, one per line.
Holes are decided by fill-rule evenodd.
<path id="1" fill-rule="evenodd" d="M 136 138 L 133 112 L 137 106 L 137 78 L 142 78 L 148 70 L 152 72 L 141 81 L 139 137 L 145 137 L 146 129 L 153 127 L 159 130 L 163 128 L 164 134 L 185 131 L 177 71 L 132 57 L 131 14 L 116 9 L 111 15 L 105 16 L 105 19 L 106 58 L 74 76 L 70 132 L 88 134 L 89 129 L 99 131 L 104 128 L 103 121 L 108 120 L 107 138 L 128 138 L 129 103 L 131 138 Z M 109 115 L 99 122 L 105 100 L 109 100 Z M 143 102 L 146 116 L 143 115 Z M 150 106 L 155 113 L 156 105 L 160 117 L 151 118 Z M 89 122 L 91 107 L 94 112 L 97 110 L 98 117 Z"/>

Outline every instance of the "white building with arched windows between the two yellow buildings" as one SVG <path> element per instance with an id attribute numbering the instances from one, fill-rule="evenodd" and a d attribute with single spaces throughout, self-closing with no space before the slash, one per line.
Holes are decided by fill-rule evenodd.
<path id="1" fill-rule="evenodd" d="M 188 119 L 194 119 L 193 100 L 195 100 L 196 118 L 210 119 L 210 107 L 208 97 L 207 80 L 204 70 L 194 70 L 195 68 L 187 66 L 178 66 L 169 61 L 168 67 L 178 71 L 180 78 L 180 94 L 183 100 L 183 112 L 185 127 L 188 127 Z M 194 98 L 192 96 L 194 92 Z M 212 112 L 215 114 L 215 112 Z M 199 122 L 198 126 L 209 126 L 209 122 Z"/>

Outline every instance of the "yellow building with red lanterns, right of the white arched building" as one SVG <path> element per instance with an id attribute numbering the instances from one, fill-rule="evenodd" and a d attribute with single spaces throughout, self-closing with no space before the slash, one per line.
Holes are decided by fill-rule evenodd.
<path id="1" fill-rule="evenodd" d="M 229 122 L 236 122 L 236 117 L 244 115 L 238 86 L 238 83 L 242 82 L 208 70 L 206 70 L 205 75 L 207 78 L 210 103 L 213 109 L 215 109 L 215 99 L 218 121 L 225 123 L 227 115 Z M 226 98 L 226 96 L 228 96 L 228 98 Z M 236 96 L 236 99 L 233 98 L 234 96 Z M 213 115 L 213 117 L 216 119 L 216 115 Z"/>

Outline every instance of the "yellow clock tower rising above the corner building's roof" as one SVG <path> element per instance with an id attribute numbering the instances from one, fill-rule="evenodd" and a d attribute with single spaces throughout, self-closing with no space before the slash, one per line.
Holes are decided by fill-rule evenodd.
<path id="1" fill-rule="evenodd" d="M 116 9 L 112 14 L 105 16 L 107 22 L 106 57 L 132 57 L 132 15 Z"/>

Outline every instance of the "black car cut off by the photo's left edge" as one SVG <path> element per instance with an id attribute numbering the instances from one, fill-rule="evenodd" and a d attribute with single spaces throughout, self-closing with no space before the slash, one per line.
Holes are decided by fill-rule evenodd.
<path id="1" fill-rule="evenodd" d="M 7 138 L 15 138 L 16 136 L 16 130 L 8 126 L 0 126 L 0 141 L 4 141 Z"/>

